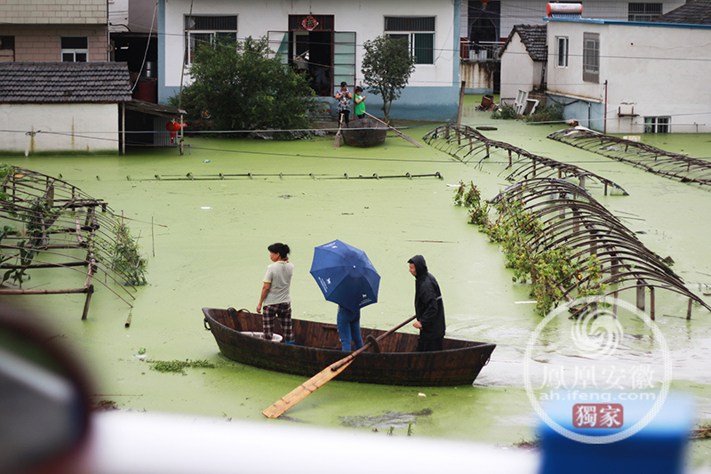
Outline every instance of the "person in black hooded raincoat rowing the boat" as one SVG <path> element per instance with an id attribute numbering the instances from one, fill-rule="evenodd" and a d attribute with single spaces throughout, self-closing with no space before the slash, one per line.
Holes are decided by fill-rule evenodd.
<path id="1" fill-rule="evenodd" d="M 442 293 L 435 276 L 427 271 L 427 263 L 422 255 L 415 255 L 409 261 L 410 273 L 415 277 L 414 326 L 419 329 L 418 352 L 442 350 L 444 343 L 444 304 Z"/>

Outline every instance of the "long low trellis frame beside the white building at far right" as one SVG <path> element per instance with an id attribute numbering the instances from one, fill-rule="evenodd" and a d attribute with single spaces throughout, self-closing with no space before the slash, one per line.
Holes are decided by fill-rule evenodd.
<path id="1" fill-rule="evenodd" d="M 691 182 L 699 186 L 711 186 L 711 161 L 671 153 L 638 141 L 604 135 L 584 127 L 559 130 L 549 134 L 548 138 L 630 163 L 669 179 Z"/>

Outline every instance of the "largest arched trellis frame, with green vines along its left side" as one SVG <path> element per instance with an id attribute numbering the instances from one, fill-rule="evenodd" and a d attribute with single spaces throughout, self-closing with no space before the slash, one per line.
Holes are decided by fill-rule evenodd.
<path id="1" fill-rule="evenodd" d="M 603 277 L 597 284 L 609 285 L 610 289 L 604 296 L 616 297 L 620 292 L 636 290 L 637 307 L 644 309 L 644 292 L 649 289 L 651 319 L 655 317 L 655 288 L 688 297 L 687 319 L 691 319 L 692 301 L 711 311 L 659 255 L 644 246 L 634 232 L 586 189 L 564 180 L 534 178 L 509 186 L 490 202 L 496 204 L 500 200 L 521 201 L 523 212 L 541 224 L 543 231 L 528 237 L 528 246 L 534 254 L 564 245 L 571 249 L 571 261 L 576 268 L 580 268 L 588 255 L 596 255 L 603 269 Z M 512 219 L 511 215 L 501 217 Z M 565 278 L 572 283 L 563 287 L 563 297 L 571 300 L 577 288 L 589 285 L 589 278 L 589 275 L 582 281 L 576 277 Z"/>

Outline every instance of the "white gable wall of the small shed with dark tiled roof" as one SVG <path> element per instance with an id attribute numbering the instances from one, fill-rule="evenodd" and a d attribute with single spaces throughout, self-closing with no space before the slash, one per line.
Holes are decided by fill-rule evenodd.
<path id="1" fill-rule="evenodd" d="M 530 92 L 539 87 L 543 62 L 531 60 L 521 36 L 514 34 L 501 55 L 501 102 L 512 105 L 518 90 Z"/>

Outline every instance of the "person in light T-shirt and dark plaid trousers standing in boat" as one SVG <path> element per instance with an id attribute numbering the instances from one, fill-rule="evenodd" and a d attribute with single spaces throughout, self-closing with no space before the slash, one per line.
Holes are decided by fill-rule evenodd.
<path id="1" fill-rule="evenodd" d="M 267 249 L 269 258 L 274 263 L 267 267 L 260 302 L 257 303 L 257 313 L 262 312 L 262 304 L 264 304 L 264 313 L 261 317 L 264 339 L 272 340 L 274 317 L 278 317 L 284 329 L 284 342 L 293 344 L 292 297 L 289 288 L 292 285 L 294 265 L 289 262 L 289 245 L 276 243 L 269 245 Z"/>

